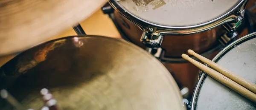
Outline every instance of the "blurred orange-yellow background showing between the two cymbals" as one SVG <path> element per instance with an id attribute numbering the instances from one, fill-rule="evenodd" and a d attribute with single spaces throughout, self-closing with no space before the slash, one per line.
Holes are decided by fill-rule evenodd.
<path id="1" fill-rule="evenodd" d="M 80 23 L 87 35 L 100 35 L 105 37 L 121 38 L 119 32 L 117 31 L 112 20 L 109 19 L 107 14 L 103 14 L 102 10 L 97 10 L 93 15 L 88 17 L 86 20 Z M 59 34 L 58 36 L 51 37 L 45 42 L 58 39 L 61 37 L 68 37 L 77 35 L 72 27 Z M 10 59 L 12 59 L 16 54 L 1 56 L 0 57 L 0 66 L 4 65 Z"/>

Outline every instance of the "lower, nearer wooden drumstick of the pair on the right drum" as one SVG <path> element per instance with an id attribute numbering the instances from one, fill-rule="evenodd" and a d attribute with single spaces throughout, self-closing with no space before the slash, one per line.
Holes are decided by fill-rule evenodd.
<path id="1" fill-rule="evenodd" d="M 221 82 L 223 85 L 226 85 L 230 89 L 236 91 L 237 93 L 241 94 L 245 98 L 251 100 L 252 102 L 256 103 L 256 94 L 251 92 L 250 90 L 247 90 L 243 86 L 237 84 L 233 80 L 227 78 L 226 76 L 222 75 L 221 73 L 218 73 L 217 71 L 201 64 L 200 62 L 197 62 L 196 60 L 190 58 L 186 54 L 181 55 L 183 59 L 186 59 L 187 61 L 191 62 L 198 68 L 200 68 L 202 71 L 206 72 L 209 76 L 217 80 L 218 82 Z"/>

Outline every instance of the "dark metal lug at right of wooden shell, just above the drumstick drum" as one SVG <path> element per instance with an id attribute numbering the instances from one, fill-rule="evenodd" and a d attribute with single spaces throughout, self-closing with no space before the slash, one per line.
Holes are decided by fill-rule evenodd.
<path id="1" fill-rule="evenodd" d="M 226 47 L 227 45 L 230 44 L 230 42 L 232 42 L 233 40 L 236 39 L 236 37 L 238 36 L 237 32 L 234 32 L 232 34 L 230 33 L 226 33 L 223 34 L 220 39 L 218 39 L 218 41 L 221 43 L 221 45 L 223 45 L 224 47 Z"/>

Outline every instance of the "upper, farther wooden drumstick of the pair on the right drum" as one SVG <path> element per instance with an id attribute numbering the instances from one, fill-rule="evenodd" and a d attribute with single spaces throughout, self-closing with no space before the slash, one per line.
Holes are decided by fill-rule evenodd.
<path id="1" fill-rule="evenodd" d="M 256 93 L 256 85 L 253 85 L 253 83 L 248 82 L 247 80 L 245 80 L 242 77 L 236 75 L 232 71 L 222 67 L 221 65 L 218 65 L 215 62 L 212 62 L 211 60 L 205 58 L 204 56 L 201 56 L 201 55 L 195 53 L 194 51 L 192 51 L 190 49 L 188 50 L 188 53 L 190 55 L 193 55 L 196 58 L 200 59 L 202 62 L 206 63 L 211 68 L 214 68 L 216 71 L 218 71 L 219 73 L 223 74 L 224 76 L 227 76 L 228 78 L 230 78 L 234 82 L 238 83 L 239 85 L 244 86 L 245 88 L 247 88 L 248 90 L 252 91 L 253 93 Z"/>

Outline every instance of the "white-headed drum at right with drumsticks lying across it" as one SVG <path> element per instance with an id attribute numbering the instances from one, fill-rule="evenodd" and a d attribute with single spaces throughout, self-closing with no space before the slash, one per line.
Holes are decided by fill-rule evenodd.
<path id="1" fill-rule="evenodd" d="M 228 45 L 212 61 L 256 84 L 256 32 Z M 256 104 L 203 73 L 192 110 L 256 110 Z"/>

